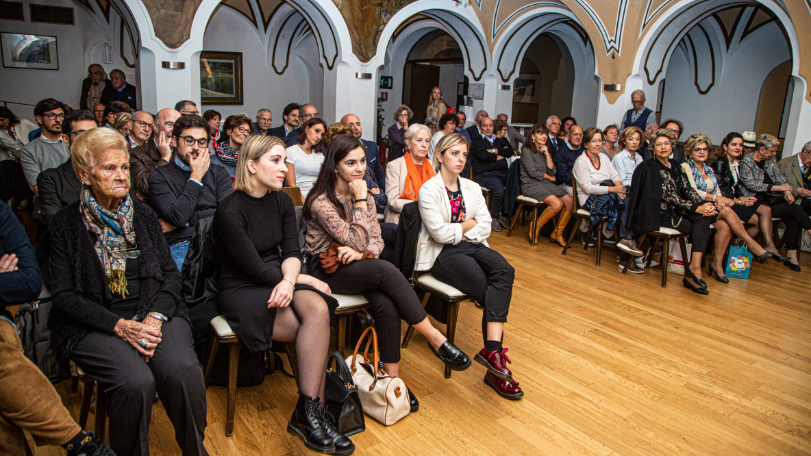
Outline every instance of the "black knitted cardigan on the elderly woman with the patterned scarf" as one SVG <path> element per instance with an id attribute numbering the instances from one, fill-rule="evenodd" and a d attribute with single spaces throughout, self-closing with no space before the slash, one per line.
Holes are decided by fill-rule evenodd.
<path id="1" fill-rule="evenodd" d="M 91 331 L 113 333 L 120 318 L 110 310 L 113 297 L 93 246 L 96 235 L 88 231 L 79 202 L 54 216 L 51 226 L 51 295 L 54 310 L 49 318 L 51 342 L 57 355 L 70 357 Z M 139 307 L 135 320 L 149 312 L 189 320 L 180 299 L 181 278 L 157 221 L 146 204 L 135 201 L 135 242 L 139 256 Z"/>

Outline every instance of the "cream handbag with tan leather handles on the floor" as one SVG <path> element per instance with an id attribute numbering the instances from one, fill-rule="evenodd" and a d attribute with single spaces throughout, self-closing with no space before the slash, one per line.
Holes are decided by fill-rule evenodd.
<path id="1" fill-rule="evenodd" d="M 369 340 L 363 355 L 358 356 L 360 345 L 367 333 L 370 333 Z M 369 344 L 373 344 L 372 350 L 374 360 L 367 359 L 369 354 Z M 374 363 L 374 364 L 373 364 Z M 346 358 L 346 364 L 350 367 L 352 381 L 358 386 L 360 403 L 363 406 L 363 413 L 380 421 L 386 426 L 391 426 L 408 415 L 411 407 L 408 401 L 408 389 L 405 382 L 396 376 L 389 376 L 380 366 L 380 355 L 377 351 L 377 333 L 374 328 L 367 328 L 363 331 L 355 346 L 354 353 Z"/>

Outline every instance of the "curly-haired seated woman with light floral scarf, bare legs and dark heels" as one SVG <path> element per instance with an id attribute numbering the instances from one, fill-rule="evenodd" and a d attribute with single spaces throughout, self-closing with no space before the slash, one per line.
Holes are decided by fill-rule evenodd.
<path id="1" fill-rule="evenodd" d="M 729 239 L 732 237 L 731 232 L 742 239 L 749 251 L 759 259 L 765 260 L 775 255 L 766 252 L 765 248 L 761 247 L 749 236 L 743 222 L 740 222 L 738 214 L 732 210 L 732 206 L 736 204 L 736 201 L 721 194 L 718 180 L 715 179 L 715 173 L 705 163 L 710 155 L 710 149 L 712 149 L 712 143 L 706 135 L 697 133 L 690 136 L 687 143 L 684 144 L 684 158 L 687 161 L 681 164 L 681 170 L 687 177 L 690 187 L 693 187 L 698 196 L 702 200 L 712 201 L 715 209 L 718 210 L 718 218 L 713 222 L 715 228 L 715 253 L 709 266 L 710 277 L 714 273 L 716 280 L 721 283 L 729 283 L 729 279 L 723 275 L 725 268 L 722 260 L 723 253 L 727 252 Z M 781 256 L 777 258 L 778 260 L 785 260 Z"/>

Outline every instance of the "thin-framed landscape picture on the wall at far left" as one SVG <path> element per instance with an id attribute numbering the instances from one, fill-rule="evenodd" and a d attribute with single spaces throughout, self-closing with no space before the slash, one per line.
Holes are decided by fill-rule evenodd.
<path id="1" fill-rule="evenodd" d="M 0 32 L 2 66 L 29 70 L 58 70 L 56 37 Z"/>

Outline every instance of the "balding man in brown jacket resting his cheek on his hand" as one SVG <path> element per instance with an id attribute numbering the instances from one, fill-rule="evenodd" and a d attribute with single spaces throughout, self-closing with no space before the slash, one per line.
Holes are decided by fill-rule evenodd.
<path id="1" fill-rule="evenodd" d="M 149 173 L 172 158 L 172 127 L 179 117 L 178 110 L 158 111 L 152 123 L 152 139 L 130 150 L 130 179 L 140 199 L 149 199 Z"/>

